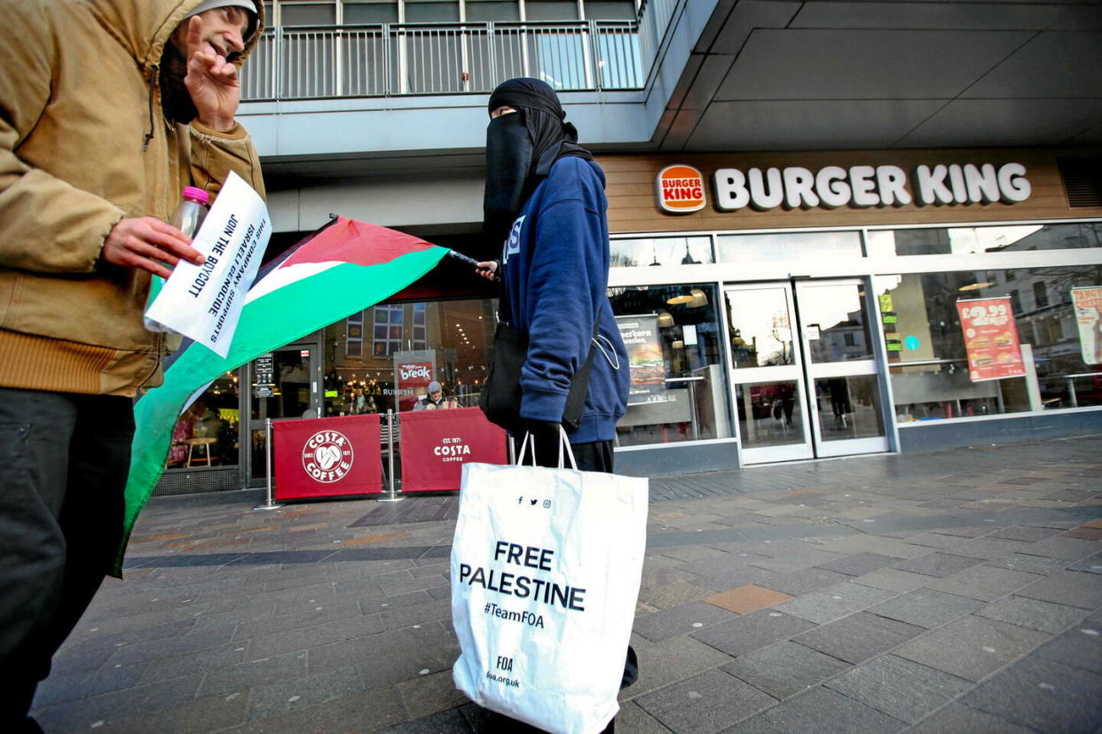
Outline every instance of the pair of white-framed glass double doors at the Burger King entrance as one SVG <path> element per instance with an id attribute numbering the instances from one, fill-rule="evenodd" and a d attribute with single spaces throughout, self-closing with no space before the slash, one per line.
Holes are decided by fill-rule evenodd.
<path id="1" fill-rule="evenodd" d="M 745 463 L 888 449 L 861 281 L 726 288 Z"/>

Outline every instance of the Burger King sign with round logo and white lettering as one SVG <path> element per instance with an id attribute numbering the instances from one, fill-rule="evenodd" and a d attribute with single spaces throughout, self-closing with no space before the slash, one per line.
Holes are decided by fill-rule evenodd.
<path id="1" fill-rule="evenodd" d="M 658 174 L 658 205 L 685 213 L 704 208 L 704 184 L 691 166 L 671 165 Z M 817 171 L 786 168 L 719 168 L 712 174 L 715 208 L 758 211 L 785 207 L 885 207 L 929 205 L 1017 204 L 1033 194 L 1020 163 L 919 165 L 908 175 L 900 166 L 823 166 Z"/>

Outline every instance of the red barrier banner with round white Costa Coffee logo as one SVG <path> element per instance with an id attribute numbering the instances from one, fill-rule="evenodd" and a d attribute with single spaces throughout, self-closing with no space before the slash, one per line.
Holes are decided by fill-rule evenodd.
<path id="1" fill-rule="evenodd" d="M 378 414 L 272 423 L 276 499 L 382 492 Z"/>

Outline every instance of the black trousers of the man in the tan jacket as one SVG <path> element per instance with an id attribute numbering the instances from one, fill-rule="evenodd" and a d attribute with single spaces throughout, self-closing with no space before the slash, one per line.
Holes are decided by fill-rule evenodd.
<path id="1" fill-rule="evenodd" d="M 0 731 L 26 719 L 50 661 L 122 535 L 130 398 L 0 387 Z"/>

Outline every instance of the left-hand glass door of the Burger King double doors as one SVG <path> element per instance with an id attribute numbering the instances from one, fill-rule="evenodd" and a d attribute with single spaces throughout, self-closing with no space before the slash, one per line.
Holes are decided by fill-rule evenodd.
<path id="1" fill-rule="evenodd" d="M 746 463 L 810 459 L 803 343 L 788 283 L 728 287 L 731 383 Z"/>

